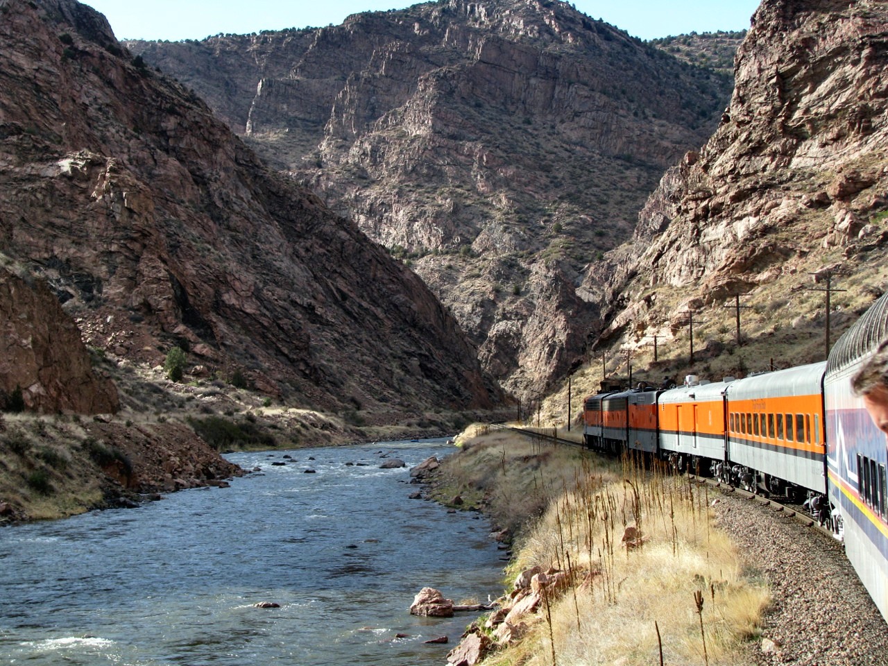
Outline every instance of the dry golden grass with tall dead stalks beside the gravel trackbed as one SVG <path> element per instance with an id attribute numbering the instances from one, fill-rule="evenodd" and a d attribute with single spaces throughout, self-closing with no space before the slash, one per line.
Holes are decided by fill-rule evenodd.
<path id="1" fill-rule="evenodd" d="M 534 452 L 533 440 L 509 437 L 465 438 L 465 453 L 453 456 L 467 456 L 459 464 L 461 478 L 486 480 L 492 496 L 495 481 L 522 479 L 511 491 L 517 497 L 532 495 L 527 479 L 545 480 L 537 485 L 545 490 L 546 509 L 519 536 L 509 575 L 555 567 L 574 585 L 551 599 L 549 613 L 543 607 L 526 638 L 485 664 L 548 666 L 553 654 L 559 666 L 657 664 L 660 641 L 668 664 L 746 662 L 744 644 L 757 633 L 768 591 L 749 577 L 731 540 L 713 525 L 714 497 L 706 487 L 563 446 L 557 448 L 573 455 Z M 515 469 L 503 473 L 502 466 L 493 468 L 504 446 L 507 467 Z M 487 466 L 487 475 L 479 465 Z M 514 506 L 523 509 L 520 502 Z M 622 542 L 629 526 L 641 532 L 638 546 Z"/>

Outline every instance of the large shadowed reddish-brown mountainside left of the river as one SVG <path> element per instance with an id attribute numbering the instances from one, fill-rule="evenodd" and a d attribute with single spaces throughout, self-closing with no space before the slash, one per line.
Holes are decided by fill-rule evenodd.
<path id="1" fill-rule="evenodd" d="M 266 170 L 100 14 L 0 12 L 0 250 L 90 345 L 152 365 L 179 345 L 207 373 L 329 410 L 500 400 L 415 274 Z"/>

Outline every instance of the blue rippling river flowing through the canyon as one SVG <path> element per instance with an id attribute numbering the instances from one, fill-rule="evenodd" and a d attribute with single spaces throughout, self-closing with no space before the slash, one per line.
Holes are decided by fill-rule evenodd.
<path id="1" fill-rule="evenodd" d="M 408 468 L 452 450 L 423 440 L 231 454 L 261 472 L 0 529 L 0 662 L 445 664 L 476 614 L 414 617 L 416 592 L 458 603 L 503 591 L 486 520 L 408 499 Z M 384 455 L 408 467 L 380 469 Z M 264 601 L 280 607 L 254 607 Z M 449 644 L 424 643 L 440 636 Z"/>

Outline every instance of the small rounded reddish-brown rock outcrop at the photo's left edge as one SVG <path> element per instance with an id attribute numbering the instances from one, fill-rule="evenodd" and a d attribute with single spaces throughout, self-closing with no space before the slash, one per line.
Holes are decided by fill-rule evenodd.
<path id="1" fill-rule="evenodd" d="M 44 284 L 14 270 L 0 267 L 0 392 L 20 388 L 25 407 L 33 411 L 117 411 L 114 384 L 92 371 L 80 331 L 59 300 Z"/>

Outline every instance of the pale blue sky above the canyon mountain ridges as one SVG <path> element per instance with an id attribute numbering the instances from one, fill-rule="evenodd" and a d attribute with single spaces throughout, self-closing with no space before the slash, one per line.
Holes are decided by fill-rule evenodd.
<path id="1" fill-rule="evenodd" d="M 203 39 L 218 33 L 338 25 L 355 12 L 403 9 L 409 0 L 85 0 L 118 39 Z M 758 0 L 575 0 L 593 19 L 641 39 L 692 30 L 741 30 Z"/>

